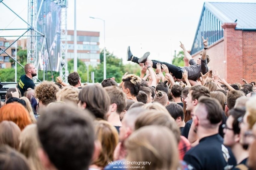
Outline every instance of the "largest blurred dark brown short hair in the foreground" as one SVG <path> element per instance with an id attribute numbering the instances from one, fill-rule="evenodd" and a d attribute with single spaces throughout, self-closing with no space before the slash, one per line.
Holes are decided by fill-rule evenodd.
<path id="1" fill-rule="evenodd" d="M 42 148 L 56 169 L 88 169 L 94 150 L 91 113 L 67 104 L 50 105 L 38 119 Z"/>

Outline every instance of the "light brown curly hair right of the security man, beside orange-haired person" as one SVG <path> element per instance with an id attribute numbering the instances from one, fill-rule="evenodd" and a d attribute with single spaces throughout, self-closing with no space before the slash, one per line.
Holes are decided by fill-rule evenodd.
<path id="1" fill-rule="evenodd" d="M 51 81 L 44 81 L 35 87 L 35 97 L 47 105 L 53 101 L 56 101 L 56 93 L 59 91 L 59 87 Z"/>

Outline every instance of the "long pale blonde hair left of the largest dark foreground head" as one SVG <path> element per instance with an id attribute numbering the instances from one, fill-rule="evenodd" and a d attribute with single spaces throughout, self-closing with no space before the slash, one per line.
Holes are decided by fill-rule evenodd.
<path id="1" fill-rule="evenodd" d="M 31 170 L 44 170 L 37 152 L 40 147 L 37 125 L 32 124 L 26 126 L 20 133 L 19 151 L 27 157 Z"/>

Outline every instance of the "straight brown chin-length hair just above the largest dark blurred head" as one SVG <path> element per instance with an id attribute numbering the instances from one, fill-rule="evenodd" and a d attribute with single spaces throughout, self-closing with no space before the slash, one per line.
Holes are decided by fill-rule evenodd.
<path id="1" fill-rule="evenodd" d="M 86 109 L 96 118 L 105 119 L 110 106 L 110 97 L 102 86 L 86 85 L 79 92 L 78 98 L 81 104 L 86 103 Z"/>

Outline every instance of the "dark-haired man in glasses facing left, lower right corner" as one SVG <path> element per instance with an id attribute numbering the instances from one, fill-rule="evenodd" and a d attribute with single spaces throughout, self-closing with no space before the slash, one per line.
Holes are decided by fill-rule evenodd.
<path id="1" fill-rule="evenodd" d="M 245 114 L 245 109 L 234 108 L 229 110 L 229 117 L 226 124 L 223 124 L 224 142 L 223 144 L 229 146 L 236 158 L 237 166 L 235 169 L 247 168 L 246 161 L 248 158 L 248 150 L 239 142 L 241 138 L 240 123 Z"/>

